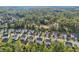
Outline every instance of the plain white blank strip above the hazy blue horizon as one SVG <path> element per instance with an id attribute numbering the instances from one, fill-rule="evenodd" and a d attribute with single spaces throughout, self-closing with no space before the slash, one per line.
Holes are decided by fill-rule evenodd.
<path id="1" fill-rule="evenodd" d="M 1 0 L 0 6 L 79 6 L 79 0 Z"/>

